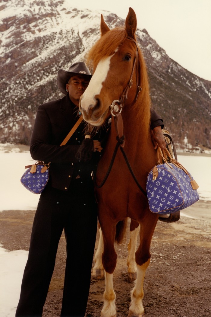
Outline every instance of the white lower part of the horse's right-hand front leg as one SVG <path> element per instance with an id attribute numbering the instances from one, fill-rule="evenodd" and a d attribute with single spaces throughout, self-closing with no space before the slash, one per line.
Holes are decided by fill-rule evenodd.
<path id="1" fill-rule="evenodd" d="M 142 316 L 144 314 L 144 307 L 142 305 L 142 299 L 144 297 L 143 284 L 149 262 L 150 259 L 141 266 L 137 264 L 137 279 L 131 292 L 131 303 L 128 316 Z"/>

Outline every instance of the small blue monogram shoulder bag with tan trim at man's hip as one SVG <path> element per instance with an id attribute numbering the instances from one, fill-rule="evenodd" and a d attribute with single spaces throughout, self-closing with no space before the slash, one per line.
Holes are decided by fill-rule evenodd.
<path id="1" fill-rule="evenodd" d="M 34 194 L 41 194 L 49 179 L 49 164 L 38 161 L 34 165 L 25 166 L 25 168 L 28 169 L 21 177 L 22 185 Z"/>

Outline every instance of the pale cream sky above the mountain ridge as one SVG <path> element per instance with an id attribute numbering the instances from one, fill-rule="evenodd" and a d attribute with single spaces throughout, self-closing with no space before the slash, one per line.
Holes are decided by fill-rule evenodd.
<path id="1" fill-rule="evenodd" d="M 211 0 L 80 0 L 70 5 L 107 10 L 124 20 L 133 8 L 138 27 L 145 28 L 173 60 L 211 81 Z"/>

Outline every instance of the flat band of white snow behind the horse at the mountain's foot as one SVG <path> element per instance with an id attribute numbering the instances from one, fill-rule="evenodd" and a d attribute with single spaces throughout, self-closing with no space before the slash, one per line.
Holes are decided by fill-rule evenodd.
<path id="1" fill-rule="evenodd" d="M 211 166 L 211 155 L 207 155 L 207 153 L 183 153 L 182 155 L 177 153 L 177 159 L 198 183 L 200 199 L 211 201 L 211 180 L 208 173 Z M 34 164 L 28 147 L 0 144 L 0 164 L 3 180 L 0 184 L 2 194 L 0 211 L 36 209 L 39 195 L 27 191 L 20 182 L 25 165 Z"/>

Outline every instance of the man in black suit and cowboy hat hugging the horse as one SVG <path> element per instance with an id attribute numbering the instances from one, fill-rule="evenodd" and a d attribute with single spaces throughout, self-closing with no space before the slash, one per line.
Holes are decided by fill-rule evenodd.
<path id="1" fill-rule="evenodd" d="M 97 139 L 100 133 L 94 137 L 92 159 L 87 162 L 75 157 L 84 140 L 83 123 L 65 146 L 59 145 L 78 120 L 79 99 L 90 78 L 83 62 L 73 64 L 68 71 L 59 69 L 57 83 L 65 97 L 43 104 L 37 111 L 30 153 L 35 160 L 51 162 L 50 179 L 34 216 L 16 317 L 42 316 L 63 229 L 67 257 L 61 316 L 85 315 L 97 229 L 91 171 L 96 164 L 95 151 L 102 150 Z M 159 123 L 162 121 L 155 114 L 153 142 L 160 139 Z"/>

